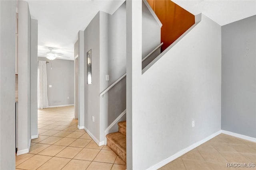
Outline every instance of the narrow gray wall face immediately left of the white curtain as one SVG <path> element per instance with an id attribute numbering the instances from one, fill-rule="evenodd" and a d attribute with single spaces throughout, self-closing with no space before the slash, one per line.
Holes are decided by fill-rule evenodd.
<path id="1" fill-rule="evenodd" d="M 31 19 L 30 111 L 31 136 L 38 135 L 37 117 L 37 20 Z M 36 137 L 36 136 L 34 136 Z M 33 137 L 33 138 L 34 138 Z"/>

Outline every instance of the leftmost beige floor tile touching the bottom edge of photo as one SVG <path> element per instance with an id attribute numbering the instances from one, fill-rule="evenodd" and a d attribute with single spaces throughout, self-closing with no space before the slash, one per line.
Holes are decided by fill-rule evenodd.
<path id="1" fill-rule="evenodd" d="M 47 162 L 51 156 L 43 156 L 43 155 L 35 155 L 32 156 L 30 159 L 26 160 L 25 162 L 18 165 L 16 168 L 26 169 L 26 170 L 36 170 L 42 164 Z"/>

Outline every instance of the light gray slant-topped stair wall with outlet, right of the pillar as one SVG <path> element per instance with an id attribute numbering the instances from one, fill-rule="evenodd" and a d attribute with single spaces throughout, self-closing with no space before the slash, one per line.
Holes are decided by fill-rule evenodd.
<path id="1" fill-rule="evenodd" d="M 134 81 L 140 82 L 131 91 L 140 103 L 132 106 L 137 170 L 221 130 L 220 25 L 202 15 L 200 23 Z"/>

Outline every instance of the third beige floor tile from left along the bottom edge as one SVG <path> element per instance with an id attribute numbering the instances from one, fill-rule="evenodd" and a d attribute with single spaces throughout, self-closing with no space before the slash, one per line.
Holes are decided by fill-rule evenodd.
<path id="1" fill-rule="evenodd" d="M 86 170 L 86 168 L 90 165 L 90 161 L 87 160 L 76 160 L 72 159 L 62 170 Z"/>

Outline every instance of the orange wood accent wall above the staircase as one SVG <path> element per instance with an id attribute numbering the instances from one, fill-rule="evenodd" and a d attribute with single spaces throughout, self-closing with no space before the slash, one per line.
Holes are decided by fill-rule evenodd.
<path id="1" fill-rule="evenodd" d="M 161 28 L 161 52 L 195 23 L 195 16 L 170 0 L 147 0 L 159 20 Z"/>

